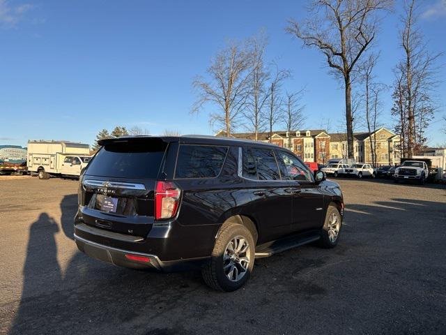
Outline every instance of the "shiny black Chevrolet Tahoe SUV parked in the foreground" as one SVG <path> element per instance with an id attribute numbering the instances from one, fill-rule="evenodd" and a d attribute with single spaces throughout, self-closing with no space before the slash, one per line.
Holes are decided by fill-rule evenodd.
<path id="1" fill-rule="evenodd" d="M 75 240 L 114 265 L 201 269 L 240 288 L 254 258 L 337 244 L 344 202 L 325 174 L 272 144 L 210 136 L 118 137 L 82 172 Z"/>

